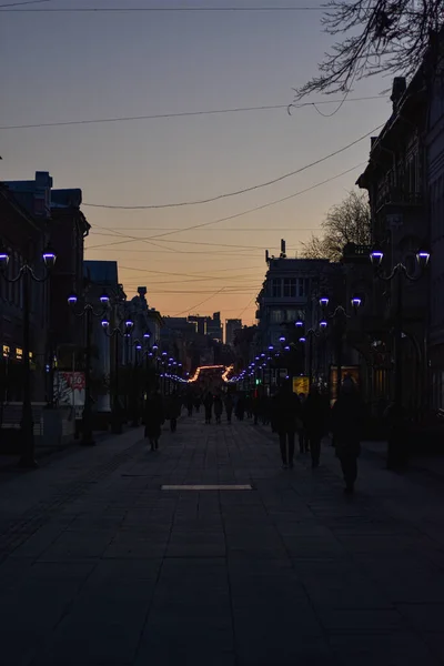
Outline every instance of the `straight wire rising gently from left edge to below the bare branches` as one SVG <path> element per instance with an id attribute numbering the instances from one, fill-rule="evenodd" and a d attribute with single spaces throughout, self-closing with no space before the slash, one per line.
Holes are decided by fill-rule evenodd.
<path id="1" fill-rule="evenodd" d="M 46 0 L 47 1 L 47 0 Z M 366 100 L 384 99 L 380 94 L 350 98 L 346 102 L 362 102 Z M 302 109 L 305 107 L 319 107 L 320 104 L 334 104 L 343 102 L 344 100 L 320 100 L 319 102 L 301 102 L 300 104 L 291 104 L 292 109 Z M 94 123 L 107 123 L 107 122 L 128 122 L 134 120 L 160 120 L 167 118 L 190 118 L 193 115 L 218 115 L 224 113 L 242 113 L 251 111 L 272 111 L 276 109 L 289 109 L 289 104 L 263 104 L 260 107 L 234 107 L 232 109 L 210 109 L 202 111 L 179 111 L 176 113 L 152 113 L 149 115 L 121 115 L 118 118 L 94 118 L 83 120 L 64 120 L 54 122 L 38 122 L 32 124 L 19 124 L 19 125 L 1 125 L 0 130 L 29 130 L 36 128 L 58 128 L 67 125 L 82 125 L 82 124 L 94 124 Z M 317 109 L 316 109 L 317 110 Z"/>

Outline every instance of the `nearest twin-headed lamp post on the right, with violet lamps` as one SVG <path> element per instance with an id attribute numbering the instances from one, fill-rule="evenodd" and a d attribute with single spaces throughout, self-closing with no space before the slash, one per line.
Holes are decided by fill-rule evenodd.
<path id="1" fill-rule="evenodd" d="M 406 450 L 403 447 L 404 418 L 403 418 L 403 356 L 402 356 L 402 336 L 403 336 L 403 290 L 404 280 L 417 282 L 424 274 L 428 265 L 430 252 L 418 250 L 416 252 L 416 263 L 420 268 L 418 275 L 411 275 L 403 263 L 393 266 L 390 273 L 384 273 L 382 264 L 384 252 L 380 246 L 374 246 L 370 253 L 370 260 L 375 270 L 375 275 L 383 282 L 396 281 L 396 305 L 394 315 L 394 352 L 395 352 L 395 391 L 394 391 L 394 411 L 392 432 L 387 442 L 387 468 L 393 470 L 406 462 Z"/>

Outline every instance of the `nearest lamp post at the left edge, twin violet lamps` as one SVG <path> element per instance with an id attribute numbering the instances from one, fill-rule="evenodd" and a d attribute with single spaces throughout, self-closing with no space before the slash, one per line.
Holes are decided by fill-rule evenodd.
<path id="1" fill-rule="evenodd" d="M 32 268 L 26 261 L 17 275 L 8 278 L 7 270 L 9 264 L 9 252 L 4 248 L 0 249 L 0 273 L 7 282 L 22 282 L 23 284 L 23 403 L 21 416 L 21 440 L 22 452 L 19 461 L 20 467 L 36 468 L 34 457 L 34 424 L 32 421 L 31 403 L 31 366 L 30 366 L 30 286 L 33 282 L 46 282 L 56 264 L 56 253 L 51 245 L 48 245 L 42 253 L 42 260 L 46 268 L 46 275 L 38 278 Z"/>

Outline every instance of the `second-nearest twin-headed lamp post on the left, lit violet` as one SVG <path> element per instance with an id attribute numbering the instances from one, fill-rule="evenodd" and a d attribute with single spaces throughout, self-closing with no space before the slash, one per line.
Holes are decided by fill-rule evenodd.
<path id="1" fill-rule="evenodd" d="M 92 435 L 92 408 L 91 408 L 91 337 L 92 337 L 92 319 L 100 317 L 104 321 L 103 315 L 107 312 L 110 297 L 107 292 L 103 292 L 100 296 L 100 303 L 102 310 L 100 312 L 94 311 L 94 306 L 91 303 L 85 303 L 81 310 L 75 310 L 78 304 L 78 296 L 75 293 L 71 293 L 68 296 L 68 303 L 71 306 L 72 312 L 79 319 L 85 320 L 87 326 L 87 347 L 84 354 L 84 404 L 82 414 L 82 444 L 85 446 L 93 446 L 95 444 Z"/>

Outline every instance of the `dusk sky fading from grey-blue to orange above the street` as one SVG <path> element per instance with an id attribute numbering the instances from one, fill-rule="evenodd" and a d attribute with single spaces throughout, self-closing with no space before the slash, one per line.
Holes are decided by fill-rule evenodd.
<path id="1" fill-rule="evenodd" d="M 387 95 L 356 98 L 379 95 L 391 85 L 386 79 L 357 82 L 341 108 L 334 101 L 341 95 L 317 95 L 304 100 L 321 101 L 317 110 L 309 104 L 287 113 L 293 89 L 316 74 L 331 38 L 322 32 L 321 11 L 276 8 L 320 4 L 49 0 L 3 10 L 0 179 L 49 171 L 54 188 L 80 188 L 92 228 L 85 256 L 118 260 L 129 297 L 145 285 L 150 306 L 164 315 L 221 311 L 222 319 L 254 323 L 265 249 L 279 253 L 285 239 L 287 255 L 296 256 L 301 243 L 320 233 L 329 208 L 363 170 L 370 135 L 238 195 L 193 205 L 112 206 L 164 206 L 250 189 L 377 133 L 372 130 L 391 112 Z M 274 11 L 44 11 L 186 6 Z M 281 108 L 174 117 L 251 107 Z M 141 115 L 163 118 L 3 129 Z"/>

